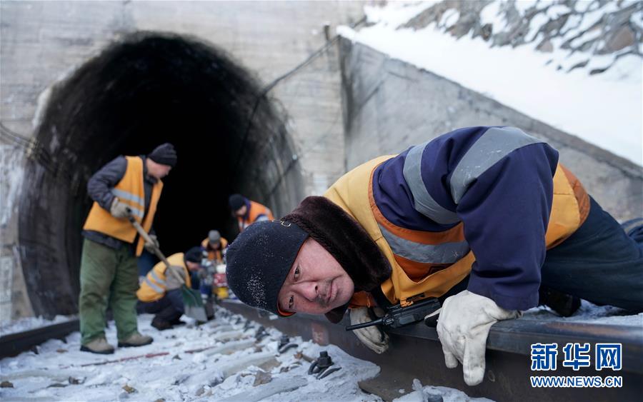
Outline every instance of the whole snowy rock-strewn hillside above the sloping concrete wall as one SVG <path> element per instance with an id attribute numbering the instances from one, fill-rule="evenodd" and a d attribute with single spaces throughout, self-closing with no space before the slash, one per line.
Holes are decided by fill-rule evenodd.
<path id="1" fill-rule="evenodd" d="M 339 34 L 643 165 L 643 2 L 390 2 L 365 11 L 367 26 Z"/>

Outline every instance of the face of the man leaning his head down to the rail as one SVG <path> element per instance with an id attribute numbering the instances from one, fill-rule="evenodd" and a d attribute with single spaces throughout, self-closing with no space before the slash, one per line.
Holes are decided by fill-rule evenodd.
<path id="1" fill-rule="evenodd" d="M 306 239 L 279 291 L 284 312 L 323 314 L 343 306 L 353 296 L 348 273 L 321 244 Z"/>

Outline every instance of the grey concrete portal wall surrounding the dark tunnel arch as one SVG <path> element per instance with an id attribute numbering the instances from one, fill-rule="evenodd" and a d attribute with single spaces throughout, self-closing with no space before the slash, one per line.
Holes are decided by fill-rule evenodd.
<path id="1" fill-rule="evenodd" d="M 106 46 L 136 31 L 186 35 L 209 43 L 232 56 L 265 85 L 327 46 L 325 24 L 332 35 L 334 26 L 352 24 L 363 16 L 362 3 L 344 1 L 3 1 L 0 11 L 0 121 L 24 137 L 15 139 L 4 131 L 1 137 L 0 278 L 3 288 L 11 288 L 11 294 L 5 291 L 0 295 L 2 320 L 9 315 L 51 313 L 39 307 L 34 309 L 29 303 L 29 286 L 25 287 L 20 268 L 20 256 L 24 258 L 28 250 L 18 240 L 18 218 L 21 189 L 25 185 L 24 166 L 39 163 L 29 153 L 31 145 L 25 143 L 34 140 L 52 85 L 64 83 Z M 304 194 L 320 194 L 343 173 L 337 58 L 337 46 L 327 46 L 311 63 L 280 81 L 267 94 L 285 116 L 291 150 L 269 144 L 259 156 L 241 156 L 242 165 L 246 166 L 254 166 L 261 159 L 274 159 L 268 169 L 252 168 L 240 174 L 235 190 L 264 201 L 276 215 L 289 211 Z M 54 134 L 47 137 L 48 143 L 38 146 L 48 151 L 54 162 L 57 156 L 68 159 L 71 156 L 69 160 L 73 161 L 79 150 L 66 149 L 65 133 Z M 256 158 L 261 159 L 248 160 Z M 76 196 L 86 198 L 84 183 L 94 166 L 79 168 L 80 179 L 76 181 L 74 176 L 71 184 L 59 183 L 59 178 L 52 177 L 46 169 L 36 169 L 28 177 L 38 179 L 33 186 L 41 185 L 40 181 L 49 183 L 46 188 L 69 186 L 70 191 L 76 189 Z M 270 180 L 261 189 L 251 183 L 265 178 Z M 64 203 L 64 199 L 54 198 Z M 47 201 L 43 198 L 38 202 L 43 206 Z M 58 209 L 55 211 L 59 214 Z M 81 214 L 76 213 L 74 222 L 81 221 Z M 60 229 L 57 225 L 41 225 L 38 230 L 55 236 Z M 78 246 L 58 250 L 49 244 L 29 247 L 49 249 L 47 258 L 78 250 Z M 63 261 L 60 263 L 69 264 L 78 261 L 78 256 L 59 259 Z M 36 274 L 33 267 L 24 269 L 26 276 Z M 76 281 L 77 267 L 66 269 L 71 270 L 70 279 Z M 13 285 L 4 287 L 7 283 Z M 41 297 L 49 296 L 31 294 L 31 298 Z"/>

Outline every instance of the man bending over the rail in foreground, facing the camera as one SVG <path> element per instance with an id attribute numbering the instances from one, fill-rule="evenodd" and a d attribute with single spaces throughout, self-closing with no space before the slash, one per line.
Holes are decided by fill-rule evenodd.
<path id="1" fill-rule="evenodd" d="M 519 129 L 472 127 L 369 161 L 280 221 L 252 224 L 228 248 L 227 278 L 250 306 L 332 322 L 349 307 L 364 323 L 367 307 L 439 298 L 446 366 L 462 363 L 477 385 L 489 328 L 549 290 L 643 311 L 635 238 L 551 146 Z M 354 332 L 387 350 L 377 328 Z"/>

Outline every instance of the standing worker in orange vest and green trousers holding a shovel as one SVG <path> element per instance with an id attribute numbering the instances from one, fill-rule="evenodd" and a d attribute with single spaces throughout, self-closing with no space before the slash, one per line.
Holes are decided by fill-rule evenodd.
<path id="1" fill-rule="evenodd" d="M 87 192 L 94 205 L 83 226 L 79 296 L 81 351 L 114 353 L 105 339 L 105 313 L 111 306 L 119 346 L 143 346 L 136 325 L 136 290 L 139 275 L 136 257 L 144 246 L 129 221 L 130 214 L 151 232 L 161 179 L 176 165 L 172 144 L 162 144 L 147 156 L 119 156 L 91 176 Z M 150 237 L 158 246 L 156 236 Z"/>

